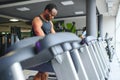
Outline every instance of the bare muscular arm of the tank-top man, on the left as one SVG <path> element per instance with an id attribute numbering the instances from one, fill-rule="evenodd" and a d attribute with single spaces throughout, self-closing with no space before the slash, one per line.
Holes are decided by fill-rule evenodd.
<path id="1" fill-rule="evenodd" d="M 41 29 L 42 27 L 42 21 L 39 19 L 39 17 L 35 17 L 32 21 L 32 27 L 37 36 L 45 36 L 45 33 Z"/>

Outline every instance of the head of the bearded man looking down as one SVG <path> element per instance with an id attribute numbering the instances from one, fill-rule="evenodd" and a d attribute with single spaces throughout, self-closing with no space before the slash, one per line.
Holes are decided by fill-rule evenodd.
<path id="1" fill-rule="evenodd" d="M 44 9 L 44 18 L 48 21 L 52 20 L 57 15 L 57 6 L 55 4 L 48 4 Z"/>

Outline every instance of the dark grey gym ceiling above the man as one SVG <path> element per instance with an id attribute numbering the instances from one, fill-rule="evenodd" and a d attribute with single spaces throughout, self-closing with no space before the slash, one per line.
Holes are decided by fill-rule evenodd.
<path id="1" fill-rule="evenodd" d="M 69 5 L 62 2 L 69 1 Z M 108 0 L 107 0 L 108 1 Z M 119 1 L 119 0 L 110 0 Z M 55 3 L 58 6 L 57 18 L 85 16 L 86 0 L 0 0 L 0 23 L 8 23 L 9 19 L 16 18 L 21 21 L 31 21 L 34 16 L 39 15 L 46 4 Z M 96 0 L 97 13 L 108 12 L 106 0 Z M 102 8 L 101 8 L 102 7 Z M 113 11 L 113 16 L 116 15 Z"/>

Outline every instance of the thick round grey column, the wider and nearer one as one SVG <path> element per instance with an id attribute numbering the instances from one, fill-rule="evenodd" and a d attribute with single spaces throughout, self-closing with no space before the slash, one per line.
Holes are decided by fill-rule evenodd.
<path id="1" fill-rule="evenodd" d="M 96 0 L 86 0 L 87 36 L 97 37 Z"/>

